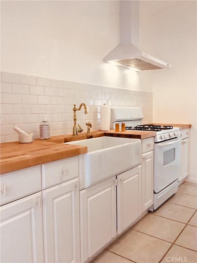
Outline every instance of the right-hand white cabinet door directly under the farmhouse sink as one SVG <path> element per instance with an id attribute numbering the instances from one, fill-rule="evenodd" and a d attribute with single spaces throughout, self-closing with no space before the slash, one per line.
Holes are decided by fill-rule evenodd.
<path id="1" fill-rule="evenodd" d="M 117 232 L 141 215 L 141 165 L 117 175 Z"/>

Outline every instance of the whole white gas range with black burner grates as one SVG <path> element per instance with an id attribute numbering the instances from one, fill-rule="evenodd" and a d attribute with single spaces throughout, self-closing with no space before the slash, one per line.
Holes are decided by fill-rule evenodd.
<path id="1" fill-rule="evenodd" d="M 154 131 L 154 204 L 158 208 L 178 190 L 180 176 L 180 131 L 178 127 L 141 125 L 141 108 L 111 107 L 111 129 L 125 123 L 126 130 Z"/>

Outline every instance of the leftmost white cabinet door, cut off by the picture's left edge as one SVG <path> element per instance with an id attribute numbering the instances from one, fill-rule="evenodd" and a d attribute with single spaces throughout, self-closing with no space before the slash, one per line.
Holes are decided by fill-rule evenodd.
<path id="1" fill-rule="evenodd" d="M 1 207 L 1 262 L 44 262 L 41 192 Z"/>

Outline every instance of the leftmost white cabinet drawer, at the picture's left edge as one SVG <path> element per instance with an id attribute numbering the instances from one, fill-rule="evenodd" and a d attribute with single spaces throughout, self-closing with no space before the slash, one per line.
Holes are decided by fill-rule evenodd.
<path id="1" fill-rule="evenodd" d="M 41 191 L 41 165 L 1 175 L 1 205 Z"/>

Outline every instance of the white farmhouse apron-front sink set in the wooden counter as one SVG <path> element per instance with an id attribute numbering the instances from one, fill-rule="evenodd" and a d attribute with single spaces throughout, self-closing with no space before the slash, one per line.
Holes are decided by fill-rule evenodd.
<path id="1" fill-rule="evenodd" d="M 140 139 L 103 136 L 67 143 L 87 146 L 87 153 L 81 154 L 85 188 L 141 163 Z"/>

